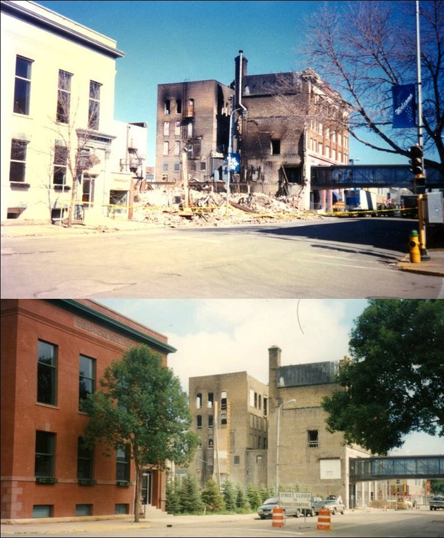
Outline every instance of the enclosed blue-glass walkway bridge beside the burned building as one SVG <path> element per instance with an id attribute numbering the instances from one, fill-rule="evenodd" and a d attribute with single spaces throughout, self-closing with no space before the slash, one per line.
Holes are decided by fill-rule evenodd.
<path id="1" fill-rule="evenodd" d="M 444 188 L 444 174 L 438 169 L 425 170 L 425 186 Z M 312 166 L 312 189 L 353 189 L 370 187 L 402 187 L 413 190 L 409 165 Z"/>

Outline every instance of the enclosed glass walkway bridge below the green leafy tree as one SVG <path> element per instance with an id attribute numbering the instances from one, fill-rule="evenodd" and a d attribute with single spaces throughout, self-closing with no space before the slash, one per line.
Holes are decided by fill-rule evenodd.
<path id="1" fill-rule="evenodd" d="M 350 482 L 444 478 L 444 455 L 350 458 Z"/>

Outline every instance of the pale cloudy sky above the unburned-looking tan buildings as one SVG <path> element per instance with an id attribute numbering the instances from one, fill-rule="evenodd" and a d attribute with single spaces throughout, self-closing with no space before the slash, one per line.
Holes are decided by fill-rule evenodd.
<path id="1" fill-rule="evenodd" d="M 168 365 L 188 392 L 188 378 L 246 371 L 268 383 L 268 348 L 281 364 L 341 360 L 366 300 L 98 300 L 168 337 Z M 395 395 L 394 395 L 395 397 Z M 410 435 L 394 455 L 444 453 L 443 439 Z"/>

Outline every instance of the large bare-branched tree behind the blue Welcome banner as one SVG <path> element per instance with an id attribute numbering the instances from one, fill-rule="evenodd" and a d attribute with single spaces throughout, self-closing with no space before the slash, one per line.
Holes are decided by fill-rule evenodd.
<path id="1" fill-rule="evenodd" d="M 416 130 L 392 127 L 392 87 L 416 82 L 416 2 L 340 4 L 325 2 L 305 19 L 299 53 L 328 82 L 319 90 L 330 110 L 350 112 L 332 122 L 344 120 L 342 126 L 368 147 L 408 157 Z M 444 173 L 444 1 L 421 1 L 420 15 L 424 162 Z M 323 91 L 330 89 L 336 92 Z"/>

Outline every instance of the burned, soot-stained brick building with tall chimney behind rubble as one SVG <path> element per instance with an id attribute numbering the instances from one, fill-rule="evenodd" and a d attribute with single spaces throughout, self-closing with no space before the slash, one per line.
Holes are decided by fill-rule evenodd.
<path id="1" fill-rule="evenodd" d="M 339 101 L 310 68 L 249 75 L 243 51 L 229 85 L 159 85 L 157 181 L 180 180 L 186 166 L 199 182 L 230 177 L 235 192 L 291 196 L 299 209 L 330 207 L 331 192 L 311 189 L 310 168 L 349 162 L 347 111 Z M 228 167 L 229 153 L 239 169 Z"/>

